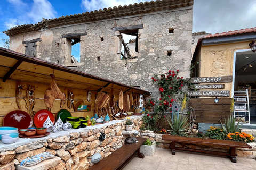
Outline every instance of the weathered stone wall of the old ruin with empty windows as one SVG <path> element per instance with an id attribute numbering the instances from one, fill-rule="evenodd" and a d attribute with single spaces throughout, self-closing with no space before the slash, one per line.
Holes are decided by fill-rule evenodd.
<path id="1" fill-rule="evenodd" d="M 37 57 L 65 66 L 77 66 L 75 69 L 86 73 L 112 79 L 130 86 L 140 86 L 156 94 L 151 85 L 154 74 L 167 70 L 181 71 L 184 78 L 189 77 L 191 62 L 193 7 L 180 7 L 172 10 L 125 16 L 98 22 L 74 24 L 57 28 L 45 28 L 38 32 L 10 36 L 10 48 L 25 53 L 23 41 L 41 38 L 37 42 Z M 115 27 L 143 24 L 139 29 L 138 59 L 121 60 L 119 31 Z M 169 33 L 169 28 L 174 28 Z M 66 38 L 68 33 L 87 33 L 81 36 L 80 63 L 70 63 Z M 103 37 L 103 41 L 101 41 Z M 172 55 L 167 56 L 167 50 Z M 100 57 L 100 61 L 98 58 Z"/>

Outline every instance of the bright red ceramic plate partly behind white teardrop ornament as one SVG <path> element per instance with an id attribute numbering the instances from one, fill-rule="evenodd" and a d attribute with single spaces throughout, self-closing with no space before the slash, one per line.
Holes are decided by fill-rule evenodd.
<path id="1" fill-rule="evenodd" d="M 54 124 L 55 118 L 54 118 L 54 115 L 50 111 L 40 110 L 40 111 L 36 112 L 36 114 L 34 116 L 34 124 L 35 124 L 36 128 L 43 127 L 43 124 L 48 116 L 50 117 L 50 120 Z"/>

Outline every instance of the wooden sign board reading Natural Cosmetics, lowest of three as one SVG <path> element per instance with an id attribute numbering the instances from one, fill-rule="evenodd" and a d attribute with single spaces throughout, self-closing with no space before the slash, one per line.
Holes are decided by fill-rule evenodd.
<path id="1" fill-rule="evenodd" d="M 189 91 L 188 96 L 200 96 L 200 97 L 229 97 L 230 91 Z"/>

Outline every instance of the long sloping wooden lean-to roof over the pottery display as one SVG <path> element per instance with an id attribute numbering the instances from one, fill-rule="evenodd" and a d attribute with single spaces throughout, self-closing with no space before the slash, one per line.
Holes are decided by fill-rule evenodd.
<path id="1" fill-rule="evenodd" d="M 41 60 L 39 58 L 26 56 L 25 54 L 0 47 L 0 78 L 3 82 L 8 80 L 27 81 L 41 84 L 50 84 L 50 74 L 55 75 L 58 86 L 110 92 L 111 88 L 115 93 L 119 91 L 131 91 L 138 94 L 150 94 L 149 91 L 138 89 L 132 86 L 97 77 L 82 71 Z"/>

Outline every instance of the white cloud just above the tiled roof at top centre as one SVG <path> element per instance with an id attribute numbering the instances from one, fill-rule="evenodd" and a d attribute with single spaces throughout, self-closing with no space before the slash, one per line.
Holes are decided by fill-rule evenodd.
<path id="1" fill-rule="evenodd" d="M 114 6 L 124 6 L 134 3 L 144 2 L 140 0 L 82 0 L 82 8 L 86 11 L 100 10 L 103 8 L 113 8 Z"/>

